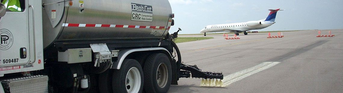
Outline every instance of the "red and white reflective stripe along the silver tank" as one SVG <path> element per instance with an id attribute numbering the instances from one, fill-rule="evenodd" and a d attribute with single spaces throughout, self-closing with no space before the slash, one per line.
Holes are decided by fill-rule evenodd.
<path id="1" fill-rule="evenodd" d="M 153 29 L 170 29 L 165 26 L 135 26 L 135 25 L 109 25 L 109 24 L 68 24 L 63 23 L 63 27 L 118 27 L 118 28 L 153 28 Z"/>

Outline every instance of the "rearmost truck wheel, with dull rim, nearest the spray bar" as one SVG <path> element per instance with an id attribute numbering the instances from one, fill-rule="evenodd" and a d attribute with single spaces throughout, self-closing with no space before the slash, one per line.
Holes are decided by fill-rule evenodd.
<path id="1" fill-rule="evenodd" d="M 154 53 L 144 64 L 144 90 L 147 93 L 166 93 L 171 83 L 171 65 L 167 55 Z"/>

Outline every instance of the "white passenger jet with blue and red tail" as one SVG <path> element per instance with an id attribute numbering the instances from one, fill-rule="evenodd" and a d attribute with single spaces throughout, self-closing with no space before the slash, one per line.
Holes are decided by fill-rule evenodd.
<path id="1" fill-rule="evenodd" d="M 255 29 L 263 29 L 269 27 L 275 23 L 275 17 L 277 11 L 282 11 L 280 9 L 269 10 L 270 13 L 267 18 L 259 20 L 259 21 L 248 21 L 243 23 L 231 23 L 231 24 L 217 24 L 217 25 L 208 25 L 203 28 L 200 32 L 204 33 L 206 36 L 206 32 L 234 32 L 237 36 L 239 32 L 244 32 L 244 35 L 248 35 L 246 31 L 255 30 Z"/>

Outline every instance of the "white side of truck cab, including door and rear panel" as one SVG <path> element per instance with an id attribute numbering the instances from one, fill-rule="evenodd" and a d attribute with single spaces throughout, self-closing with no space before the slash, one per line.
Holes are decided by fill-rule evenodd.
<path id="1" fill-rule="evenodd" d="M 17 1 L 21 12 L 1 11 L 0 76 L 44 69 L 41 1 Z"/>

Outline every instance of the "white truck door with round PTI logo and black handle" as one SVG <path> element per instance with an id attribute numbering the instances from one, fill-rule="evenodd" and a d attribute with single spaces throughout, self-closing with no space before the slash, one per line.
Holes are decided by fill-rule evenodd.
<path id="1" fill-rule="evenodd" d="M 29 47 L 29 43 L 33 43 L 30 42 L 32 37 L 30 38 L 29 34 L 32 35 L 33 31 L 29 32 L 28 24 L 28 14 L 33 9 L 28 8 L 27 0 L 18 1 L 20 1 L 20 8 L 17 8 L 19 7 L 18 4 L 6 6 L 9 3 L 3 3 L 7 11 L 0 18 L 0 67 L 27 64 L 30 59 L 30 52 L 33 53 Z M 15 11 L 8 7 L 15 8 Z"/>

